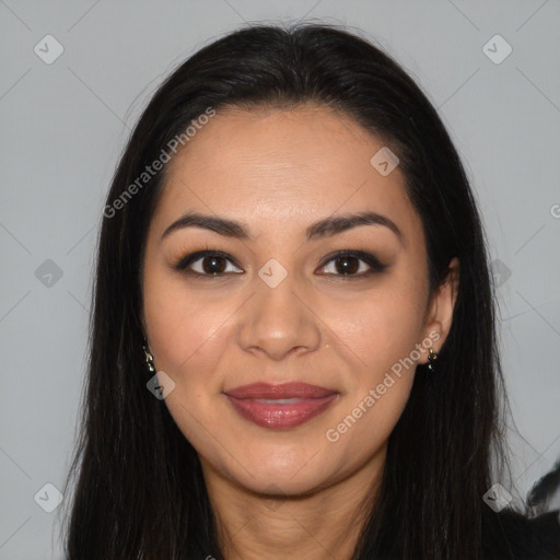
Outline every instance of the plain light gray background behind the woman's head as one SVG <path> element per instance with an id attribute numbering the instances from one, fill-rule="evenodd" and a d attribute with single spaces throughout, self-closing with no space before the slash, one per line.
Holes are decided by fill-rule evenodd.
<path id="1" fill-rule="evenodd" d="M 194 50 L 244 21 L 303 16 L 363 30 L 439 108 L 501 282 L 522 493 L 560 457 L 559 0 L 0 0 L 0 559 L 60 558 L 62 508 L 34 497 L 69 467 L 96 234 L 130 127 Z M 47 34 L 63 47 L 50 65 L 34 51 L 55 51 Z M 501 63 L 482 48 L 495 34 L 513 48 Z"/>

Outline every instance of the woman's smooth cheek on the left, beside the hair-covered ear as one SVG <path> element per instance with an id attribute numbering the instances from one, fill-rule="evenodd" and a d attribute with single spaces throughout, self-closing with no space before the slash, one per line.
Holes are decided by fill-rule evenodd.
<path id="1" fill-rule="evenodd" d="M 222 389 L 217 373 L 237 307 L 231 298 L 194 295 L 180 277 L 153 272 L 144 278 L 144 315 L 155 368 L 175 383 L 165 405 L 185 438 L 203 455 L 215 454 L 208 434 L 220 433 L 213 413 L 213 399 Z"/>

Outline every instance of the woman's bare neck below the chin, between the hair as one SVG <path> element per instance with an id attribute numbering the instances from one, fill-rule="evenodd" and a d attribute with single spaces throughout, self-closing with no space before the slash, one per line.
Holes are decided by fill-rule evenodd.
<path id="1" fill-rule="evenodd" d="M 350 560 L 381 472 L 369 465 L 305 495 L 267 497 L 234 485 L 206 462 L 202 465 L 228 560 Z"/>

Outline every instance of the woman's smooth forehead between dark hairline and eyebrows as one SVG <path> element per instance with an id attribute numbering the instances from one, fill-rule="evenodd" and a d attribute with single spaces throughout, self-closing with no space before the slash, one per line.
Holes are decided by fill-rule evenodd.
<path id="1" fill-rule="evenodd" d="M 383 147 L 327 107 L 220 112 L 167 164 L 154 225 L 162 231 L 195 210 L 288 232 L 317 218 L 372 210 L 413 238 L 420 222 L 405 176 L 398 167 L 383 176 L 371 164 Z"/>

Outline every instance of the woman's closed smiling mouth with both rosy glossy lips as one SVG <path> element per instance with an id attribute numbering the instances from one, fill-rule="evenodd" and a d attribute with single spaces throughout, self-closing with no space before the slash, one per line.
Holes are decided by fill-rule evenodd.
<path id="1" fill-rule="evenodd" d="M 224 392 L 244 419 L 270 429 L 295 428 L 325 411 L 339 393 L 306 383 L 254 383 Z"/>

